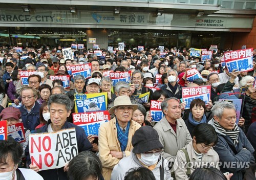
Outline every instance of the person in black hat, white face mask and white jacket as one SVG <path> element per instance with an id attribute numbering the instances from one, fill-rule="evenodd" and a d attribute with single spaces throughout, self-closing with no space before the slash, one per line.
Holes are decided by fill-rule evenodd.
<path id="1" fill-rule="evenodd" d="M 122 180 L 127 171 L 139 167 L 150 169 L 156 179 L 173 179 L 170 176 L 167 160 L 161 156 L 163 145 L 160 143 L 155 129 L 150 126 L 142 126 L 136 130 L 132 138 L 132 145 L 134 148 L 131 155 L 121 159 L 114 167 L 111 174 L 112 180 Z"/>

